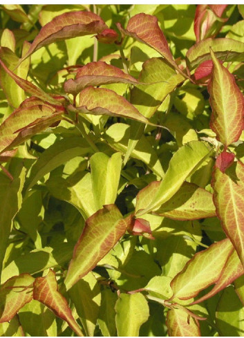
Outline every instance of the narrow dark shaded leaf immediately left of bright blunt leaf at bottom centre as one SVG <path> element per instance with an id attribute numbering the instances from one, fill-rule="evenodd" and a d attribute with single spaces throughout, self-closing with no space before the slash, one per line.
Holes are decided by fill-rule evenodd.
<path id="1" fill-rule="evenodd" d="M 101 306 L 98 314 L 97 324 L 104 337 L 115 337 L 117 330 L 115 325 L 115 303 L 118 299 L 116 293 L 109 288 L 101 291 Z"/>

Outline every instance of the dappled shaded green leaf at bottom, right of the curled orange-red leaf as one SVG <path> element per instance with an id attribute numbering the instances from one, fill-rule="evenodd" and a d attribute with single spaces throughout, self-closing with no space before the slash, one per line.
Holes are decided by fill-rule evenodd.
<path id="1" fill-rule="evenodd" d="M 97 283 L 92 272 L 79 279 L 71 290 L 68 291 L 68 294 L 75 304 L 75 309 L 86 335 L 93 337 L 101 304 L 101 294 L 100 285 Z"/>

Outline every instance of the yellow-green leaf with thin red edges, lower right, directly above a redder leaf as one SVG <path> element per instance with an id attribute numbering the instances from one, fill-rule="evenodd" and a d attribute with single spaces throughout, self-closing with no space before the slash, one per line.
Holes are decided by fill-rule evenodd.
<path id="1" fill-rule="evenodd" d="M 225 262 L 233 252 L 233 245 L 228 238 L 210 245 L 198 252 L 171 281 L 173 297 L 190 299 L 203 289 L 218 281 Z"/>

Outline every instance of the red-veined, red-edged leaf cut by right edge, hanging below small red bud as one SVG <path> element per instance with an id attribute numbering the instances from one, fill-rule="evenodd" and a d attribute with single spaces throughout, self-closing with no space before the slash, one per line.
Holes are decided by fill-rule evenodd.
<path id="1" fill-rule="evenodd" d="M 225 170 L 214 169 L 212 187 L 214 205 L 225 234 L 229 237 L 244 266 L 244 165 L 237 161 Z"/>

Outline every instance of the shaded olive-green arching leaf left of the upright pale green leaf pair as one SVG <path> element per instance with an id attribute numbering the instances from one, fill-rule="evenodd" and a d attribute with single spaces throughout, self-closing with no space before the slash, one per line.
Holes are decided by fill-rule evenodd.
<path id="1" fill-rule="evenodd" d="M 35 185 L 46 173 L 59 167 L 59 165 L 68 162 L 76 156 L 85 155 L 90 151 L 86 140 L 77 136 L 64 138 L 52 144 L 44 153 L 39 156 L 35 165 L 30 169 L 30 175 L 26 180 L 25 191 L 28 191 Z"/>

